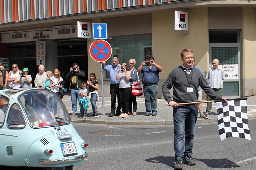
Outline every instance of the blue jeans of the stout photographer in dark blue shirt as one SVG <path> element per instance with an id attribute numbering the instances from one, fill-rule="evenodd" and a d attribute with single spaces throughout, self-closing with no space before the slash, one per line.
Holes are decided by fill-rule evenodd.
<path id="1" fill-rule="evenodd" d="M 143 93 L 145 97 L 146 113 L 157 113 L 156 110 L 156 94 L 158 92 L 158 85 L 143 86 Z"/>

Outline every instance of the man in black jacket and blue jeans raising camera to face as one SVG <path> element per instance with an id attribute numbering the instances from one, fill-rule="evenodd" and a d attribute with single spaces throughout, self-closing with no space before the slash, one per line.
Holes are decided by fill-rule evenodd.
<path id="1" fill-rule="evenodd" d="M 77 99 L 79 99 L 79 92 L 82 89 L 82 82 L 85 81 L 85 73 L 83 70 L 79 70 L 78 63 L 74 63 L 73 67 L 70 67 L 66 80 L 70 80 L 68 89 L 71 90 L 71 103 L 72 103 L 72 117 L 76 117 L 77 114 Z"/>

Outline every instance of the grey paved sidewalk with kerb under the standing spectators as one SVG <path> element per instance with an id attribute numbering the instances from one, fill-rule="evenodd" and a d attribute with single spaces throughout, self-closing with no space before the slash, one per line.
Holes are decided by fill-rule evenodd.
<path id="1" fill-rule="evenodd" d="M 100 97 L 101 100 L 101 97 Z M 87 118 L 81 119 L 81 114 L 79 112 L 79 104 L 77 108 L 77 117 L 71 118 L 72 122 L 76 123 L 91 123 L 91 124 L 110 124 L 110 125 L 170 125 L 173 124 L 173 109 L 170 106 L 166 106 L 167 102 L 164 99 L 157 99 L 157 115 L 156 116 L 145 116 L 145 100 L 144 98 L 137 97 L 137 115 L 126 118 L 120 117 L 108 117 L 110 112 L 110 97 L 104 97 L 105 100 L 105 116 L 102 114 L 102 102 L 96 103 L 98 108 L 98 115 L 100 117 L 93 117 L 89 118 L 92 115 L 92 106 L 90 100 L 88 99 L 89 109 L 87 110 Z M 72 114 L 72 107 L 71 107 L 71 98 L 70 95 L 64 96 L 62 99 L 64 104 L 66 105 L 69 114 Z M 206 100 L 204 100 L 206 101 Z M 248 97 L 247 103 L 251 105 L 251 110 L 248 109 L 250 112 L 249 118 L 256 117 L 256 107 L 254 107 L 254 103 L 256 102 L 256 96 Z M 116 103 L 117 106 L 117 103 Z M 217 110 L 214 105 L 212 104 L 212 115 L 209 115 L 208 119 L 199 118 L 200 114 L 198 114 L 197 122 L 196 123 L 211 123 L 217 122 Z M 206 103 L 203 103 L 203 110 L 206 109 Z M 254 110 L 255 109 L 255 110 Z"/>

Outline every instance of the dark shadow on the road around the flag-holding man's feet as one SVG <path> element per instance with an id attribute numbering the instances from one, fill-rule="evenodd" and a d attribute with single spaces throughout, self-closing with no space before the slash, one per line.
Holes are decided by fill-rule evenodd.
<path id="1" fill-rule="evenodd" d="M 228 160 L 226 158 L 223 159 L 196 159 L 195 161 L 201 161 L 204 162 L 205 165 L 211 167 L 211 168 L 236 168 L 240 167 L 236 165 L 236 163 L 232 162 L 231 160 Z M 145 159 L 145 161 L 154 163 L 154 164 L 165 164 L 167 166 L 170 166 L 174 168 L 175 160 L 174 156 L 157 156 L 154 158 Z"/>

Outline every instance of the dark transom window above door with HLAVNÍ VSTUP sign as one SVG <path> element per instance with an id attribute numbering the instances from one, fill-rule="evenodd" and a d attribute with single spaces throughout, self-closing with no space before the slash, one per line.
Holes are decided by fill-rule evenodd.
<path id="1" fill-rule="evenodd" d="M 210 43 L 240 43 L 240 31 L 210 31 Z"/>

